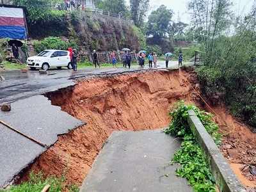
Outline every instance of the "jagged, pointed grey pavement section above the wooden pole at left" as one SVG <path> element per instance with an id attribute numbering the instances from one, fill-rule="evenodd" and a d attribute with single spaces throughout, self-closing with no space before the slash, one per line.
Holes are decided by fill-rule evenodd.
<path id="1" fill-rule="evenodd" d="M 13 102 L 12 111 L 0 112 L 0 120 L 48 146 L 56 142 L 58 135 L 84 124 L 60 107 L 52 106 L 51 100 L 43 95 Z"/>

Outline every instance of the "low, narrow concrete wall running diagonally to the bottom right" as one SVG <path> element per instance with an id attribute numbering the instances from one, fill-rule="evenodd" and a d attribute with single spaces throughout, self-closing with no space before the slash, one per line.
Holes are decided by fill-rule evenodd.
<path id="1" fill-rule="evenodd" d="M 212 140 L 193 110 L 189 111 L 188 123 L 199 145 L 205 151 L 212 175 L 220 191 L 245 192 L 245 189 L 237 179 L 235 173 L 231 170 L 226 159 L 222 156 L 220 150 L 214 143 L 214 140 Z"/>

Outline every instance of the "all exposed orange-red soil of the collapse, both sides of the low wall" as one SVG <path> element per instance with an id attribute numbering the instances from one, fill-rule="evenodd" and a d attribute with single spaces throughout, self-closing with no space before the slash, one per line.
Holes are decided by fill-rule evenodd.
<path id="1" fill-rule="evenodd" d="M 57 143 L 31 165 L 22 180 L 33 170 L 46 175 L 65 175 L 67 184 L 81 185 L 111 132 L 166 127 L 170 124 L 169 109 L 177 100 L 184 99 L 216 112 L 216 122 L 224 134 L 221 151 L 241 182 L 255 187 L 252 174 L 242 173 L 237 163 L 240 166 L 255 162 L 256 135 L 232 118 L 225 106 L 207 108 L 195 90 L 199 90 L 195 72 L 175 70 L 84 79 L 73 88 L 48 93 L 52 104 L 61 106 L 63 111 L 87 125 L 60 136 Z"/>

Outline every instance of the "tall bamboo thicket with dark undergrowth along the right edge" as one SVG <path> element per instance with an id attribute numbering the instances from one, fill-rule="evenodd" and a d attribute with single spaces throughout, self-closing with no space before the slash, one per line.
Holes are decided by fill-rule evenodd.
<path id="1" fill-rule="evenodd" d="M 194 37 L 203 67 L 197 68 L 204 95 L 223 101 L 237 118 L 256 130 L 256 6 L 235 20 L 228 0 L 193 0 Z M 200 18 L 200 20 L 198 20 Z"/>

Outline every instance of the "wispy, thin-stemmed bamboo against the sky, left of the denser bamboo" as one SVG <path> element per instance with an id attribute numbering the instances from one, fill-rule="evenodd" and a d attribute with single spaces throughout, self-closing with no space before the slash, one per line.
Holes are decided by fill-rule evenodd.
<path id="1" fill-rule="evenodd" d="M 230 0 L 191 0 L 189 2 L 192 25 L 198 33 L 198 40 L 205 45 L 205 52 L 211 52 L 214 40 L 230 27 L 232 16 L 234 16 L 231 6 Z"/>

